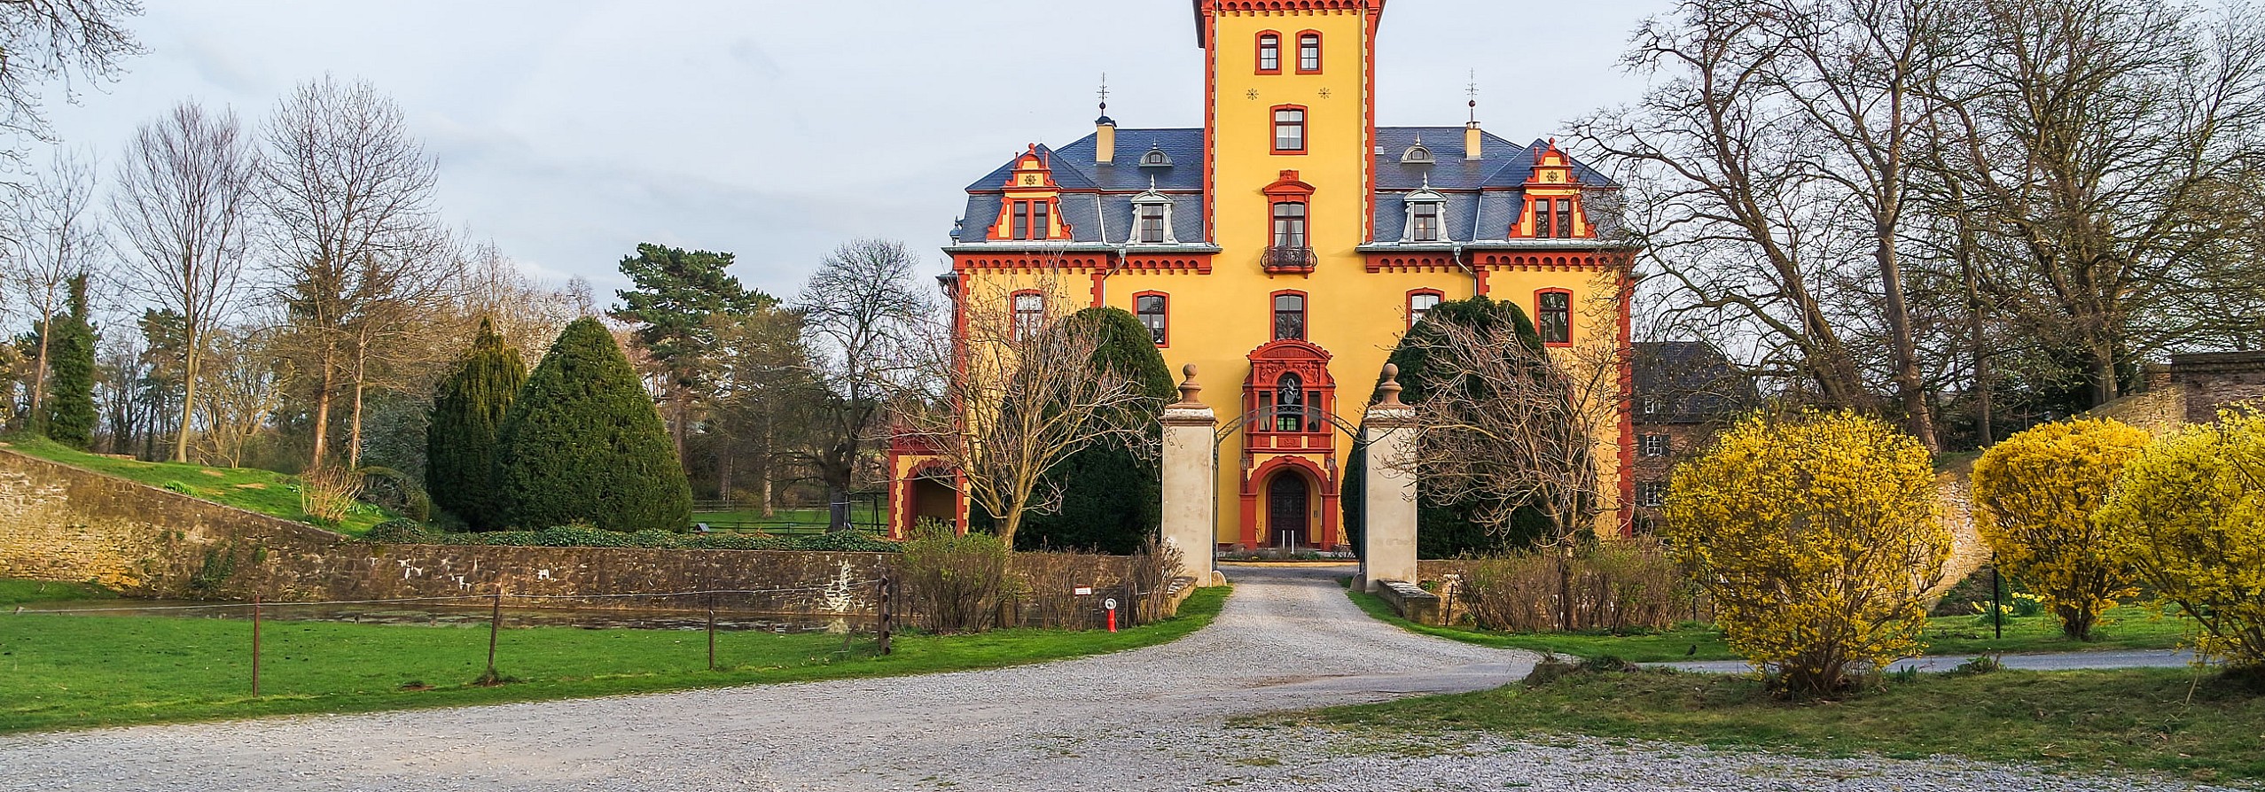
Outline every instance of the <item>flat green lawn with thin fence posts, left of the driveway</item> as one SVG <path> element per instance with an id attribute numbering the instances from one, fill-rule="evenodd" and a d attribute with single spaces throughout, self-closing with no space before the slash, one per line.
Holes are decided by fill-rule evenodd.
<path id="1" fill-rule="evenodd" d="M 682 629 L 505 629 L 496 668 L 519 681 L 471 686 L 487 629 L 276 622 L 263 625 L 260 697 L 249 695 L 245 620 L 0 613 L 0 731 L 84 729 L 288 713 L 566 699 L 772 681 L 924 674 L 1053 661 L 1166 643 L 1210 625 L 1225 588 L 1200 588 L 1180 618 L 1126 631 L 1003 629 L 981 636 L 897 636 L 874 656 L 870 636 L 707 634 Z M 430 688 L 430 690 L 414 690 Z"/>

